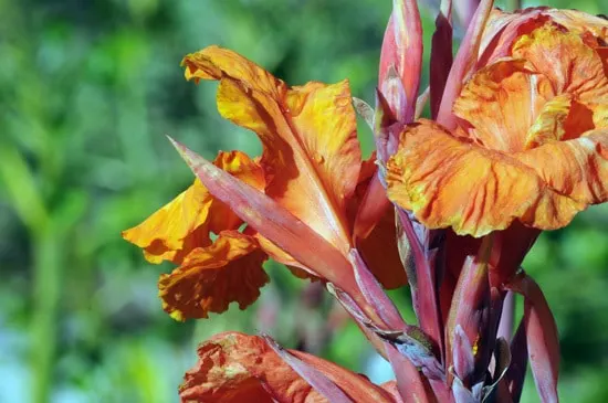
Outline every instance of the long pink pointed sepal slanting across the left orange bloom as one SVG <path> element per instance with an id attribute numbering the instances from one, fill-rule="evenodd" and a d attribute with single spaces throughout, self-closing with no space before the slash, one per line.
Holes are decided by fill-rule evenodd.
<path id="1" fill-rule="evenodd" d="M 346 257 L 310 226 L 264 193 L 239 181 L 180 142 L 169 140 L 209 192 L 228 204 L 241 220 L 321 277 L 346 291 L 356 290 Z"/>

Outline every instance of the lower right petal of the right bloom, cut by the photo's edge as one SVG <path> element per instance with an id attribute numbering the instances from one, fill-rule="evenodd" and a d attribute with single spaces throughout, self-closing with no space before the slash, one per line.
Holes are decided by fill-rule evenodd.
<path id="1" fill-rule="evenodd" d="M 608 201 L 608 129 L 514 155 L 556 192 L 583 204 Z"/>

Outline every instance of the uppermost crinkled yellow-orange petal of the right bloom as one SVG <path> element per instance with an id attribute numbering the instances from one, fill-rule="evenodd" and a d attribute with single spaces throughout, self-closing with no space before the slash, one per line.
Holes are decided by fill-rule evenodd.
<path id="1" fill-rule="evenodd" d="M 572 94 L 585 105 L 608 104 L 608 79 L 601 60 L 577 34 L 546 23 L 522 36 L 512 52 L 513 57 L 528 61 L 548 77 L 556 94 Z"/>

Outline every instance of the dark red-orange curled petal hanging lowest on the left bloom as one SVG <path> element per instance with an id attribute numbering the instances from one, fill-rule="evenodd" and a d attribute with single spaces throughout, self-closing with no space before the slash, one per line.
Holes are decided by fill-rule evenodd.
<path id="1" fill-rule="evenodd" d="M 180 267 L 160 276 L 163 309 L 181 321 L 221 314 L 232 301 L 244 309 L 269 282 L 262 268 L 266 258 L 254 237 L 238 231 L 221 232 L 211 245 L 192 250 Z"/>

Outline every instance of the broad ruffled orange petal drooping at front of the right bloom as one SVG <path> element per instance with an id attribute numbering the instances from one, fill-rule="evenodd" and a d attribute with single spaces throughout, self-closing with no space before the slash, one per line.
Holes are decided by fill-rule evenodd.
<path id="1" fill-rule="evenodd" d="M 586 206 L 515 158 L 459 140 L 432 121 L 411 125 L 400 140 L 387 165 L 389 199 L 430 229 L 479 237 L 516 219 L 558 229 Z"/>

